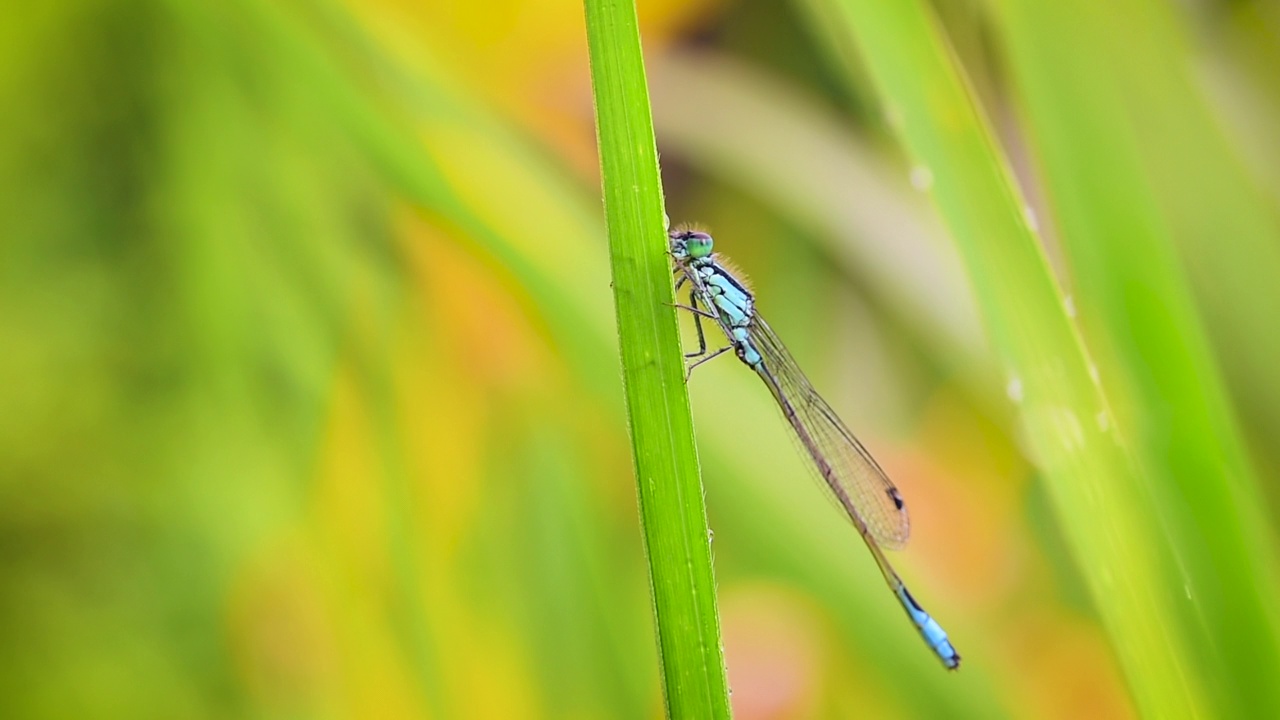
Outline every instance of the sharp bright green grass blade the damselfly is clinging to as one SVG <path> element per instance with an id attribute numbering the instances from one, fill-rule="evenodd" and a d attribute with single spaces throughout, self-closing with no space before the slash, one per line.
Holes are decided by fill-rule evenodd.
<path id="1" fill-rule="evenodd" d="M 667 711 L 728 717 L 707 507 L 663 224 L 658 151 L 632 0 L 586 0 L 622 378 Z"/>

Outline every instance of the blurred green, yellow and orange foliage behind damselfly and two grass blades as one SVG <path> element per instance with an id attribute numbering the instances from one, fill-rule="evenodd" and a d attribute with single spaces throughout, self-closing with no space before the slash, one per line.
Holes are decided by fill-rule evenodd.
<path id="1" fill-rule="evenodd" d="M 932 8 L 1147 478 L 1188 682 L 1266 716 L 1280 4 Z M 640 17 L 671 217 L 902 488 L 897 562 L 966 661 L 713 363 L 736 715 L 1135 715 L 1064 539 L 1096 519 L 1038 483 L 991 278 L 831 5 Z M 0 715 L 662 714 L 585 58 L 572 1 L 5 8 Z"/>

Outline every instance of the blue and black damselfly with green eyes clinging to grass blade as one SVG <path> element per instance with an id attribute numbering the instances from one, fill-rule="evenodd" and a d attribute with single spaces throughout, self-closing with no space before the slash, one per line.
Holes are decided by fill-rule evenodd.
<path id="1" fill-rule="evenodd" d="M 681 307 L 694 313 L 698 328 L 698 352 L 689 355 L 698 360 L 690 365 L 690 372 L 732 348 L 739 360 L 760 375 L 823 484 L 863 536 L 884 580 L 920 637 L 948 670 L 959 667 L 960 653 L 951 646 L 946 632 L 915 602 L 884 556 L 883 548 L 902 547 L 910 534 L 906 505 L 892 480 L 813 389 L 782 341 L 755 313 L 755 297 L 712 252 L 712 236 L 676 229 L 669 231 L 669 240 L 676 272 L 680 273 L 676 288 L 689 286 L 689 305 Z M 728 338 L 727 346 L 708 352 L 701 324 L 704 318 L 719 325 Z"/>

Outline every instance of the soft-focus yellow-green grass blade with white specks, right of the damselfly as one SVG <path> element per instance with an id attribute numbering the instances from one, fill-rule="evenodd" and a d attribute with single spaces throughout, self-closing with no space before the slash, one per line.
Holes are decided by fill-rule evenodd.
<path id="1" fill-rule="evenodd" d="M 1007 368 L 1033 460 L 1139 710 L 1201 715 L 1204 689 L 1188 656 L 1194 642 L 1170 600 L 1176 578 L 1164 530 L 934 17 L 916 1 L 833 1 L 918 176 L 932 181 Z"/>

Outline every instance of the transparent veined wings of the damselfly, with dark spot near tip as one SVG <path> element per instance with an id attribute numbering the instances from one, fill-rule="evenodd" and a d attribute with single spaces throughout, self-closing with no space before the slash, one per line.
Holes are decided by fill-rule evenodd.
<path id="1" fill-rule="evenodd" d="M 911 524 L 906 503 L 893 482 L 818 395 L 786 346 L 759 315 L 751 323 L 749 337 L 764 359 L 758 372 L 837 502 L 855 525 L 867 527 L 876 542 L 887 548 L 901 548 L 911 534 Z M 842 492 L 837 492 L 837 487 Z"/>

